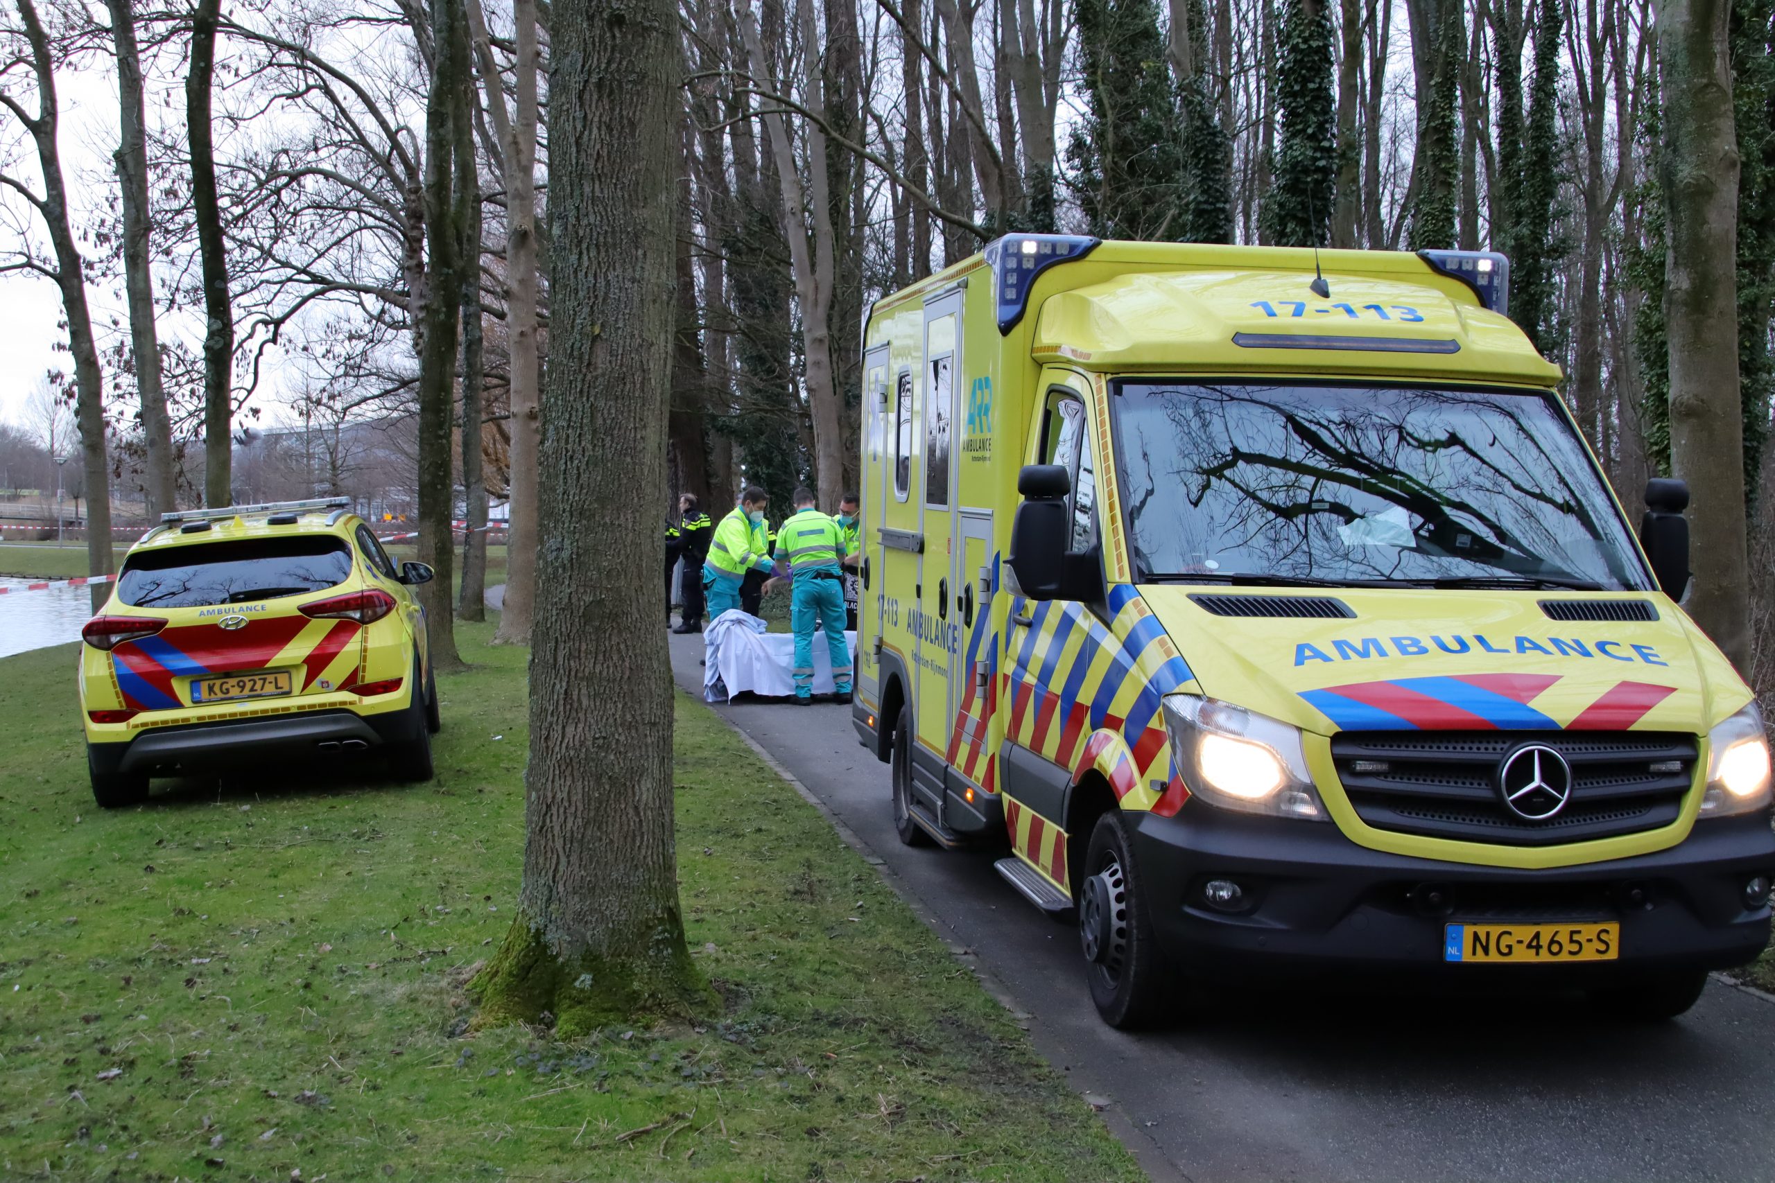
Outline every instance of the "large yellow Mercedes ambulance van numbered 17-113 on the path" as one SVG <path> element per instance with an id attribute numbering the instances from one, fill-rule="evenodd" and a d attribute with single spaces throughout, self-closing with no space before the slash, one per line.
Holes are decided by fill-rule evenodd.
<path id="1" fill-rule="evenodd" d="M 1299 972 L 1684 1011 L 1770 933 L 1770 748 L 1505 316 L 1509 261 L 1015 234 L 864 332 L 854 722 L 1008 842 L 1104 1020 Z"/>

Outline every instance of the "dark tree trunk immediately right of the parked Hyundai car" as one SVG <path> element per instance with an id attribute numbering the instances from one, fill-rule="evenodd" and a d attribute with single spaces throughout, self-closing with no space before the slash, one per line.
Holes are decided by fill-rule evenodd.
<path id="1" fill-rule="evenodd" d="M 456 323 L 462 309 L 462 239 L 467 220 L 463 163 L 456 145 L 469 140 L 469 21 L 463 0 L 433 0 L 431 87 L 426 98 L 426 247 L 430 277 L 419 333 L 419 560 L 437 578 L 419 587 L 426 610 L 431 667 L 462 669 L 454 621 L 456 482 L 451 426 L 456 419 Z M 467 161 L 474 167 L 474 160 Z"/>

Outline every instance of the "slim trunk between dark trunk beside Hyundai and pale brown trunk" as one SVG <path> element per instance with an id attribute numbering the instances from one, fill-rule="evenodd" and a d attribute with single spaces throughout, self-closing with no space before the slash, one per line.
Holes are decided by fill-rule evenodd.
<path id="1" fill-rule="evenodd" d="M 467 62 L 465 62 L 467 66 Z M 467 82 L 467 80 L 465 80 Z M 469 101 L 477 94 L 463 87 Z M 456 615 L 486 619 L 486 470 L 481 463 L 481 429 L 486 422 L 486 365 L 481 337 L 481 183 L 476 172 L 474 135 L 467 119 L 458 121 L 456 176 L 462 195 L 462 282 L 456 309 L 462 317 L 462 591 Z"/>

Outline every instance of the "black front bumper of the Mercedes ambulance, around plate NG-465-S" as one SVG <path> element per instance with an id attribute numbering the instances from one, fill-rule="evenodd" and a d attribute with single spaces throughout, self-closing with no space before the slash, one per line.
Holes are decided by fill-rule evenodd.
<path id="1" fill-rule="evenodd" d="M 1670 850 L 1521 871 L 1367 850 L 1335 825 L 1248 818 L 1191 802 L 1145 814 L 1134 837 L 1154 926 L 1177 963 L 1209 975 L 1377 972 L 1443 981 L 1596 983 L 1635 972 L 1729 968 L 1755 958 L 1770 908 L 1745 881 L 1775 873 L 1768 814 L 1702 821 Z M 1202 894 L 1232 880 L 1242 910 Z M 1431 894 L 1440 899 L 1432 901 Z M 1621 960 L 1583 965 L 1450 965 L 1447 924 L 1617 921 Z"/>

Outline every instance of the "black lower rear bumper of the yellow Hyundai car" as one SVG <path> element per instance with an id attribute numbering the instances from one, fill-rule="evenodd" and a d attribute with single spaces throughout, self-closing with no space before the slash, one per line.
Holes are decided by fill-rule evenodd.
<path id="1" fill-rule="evenodd" d="M 351 752 L 369 752 L 389 743 L 417 740 L 424 717 L 414 711 L 357 715 L 353 711 L 307 711 L 273 718 L 185 724 L 138 733 L 126 743 L 92 743 L 94 772 L 147 773 L 156 777 L 224 772 L 264 761 L 296 761 Z"/>

